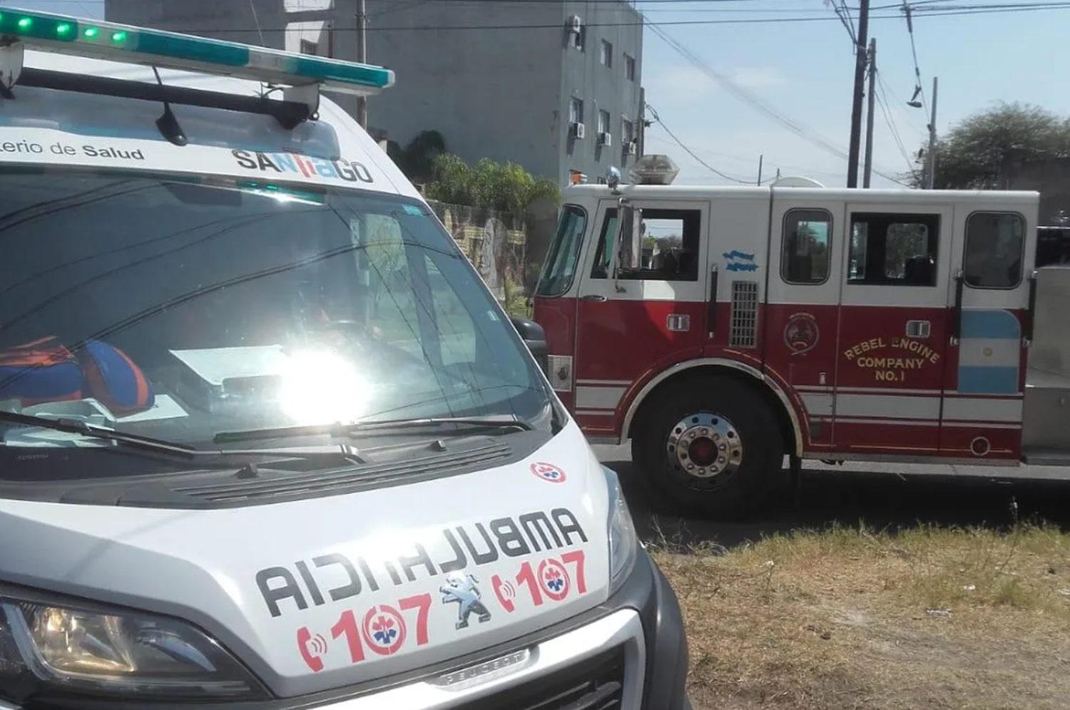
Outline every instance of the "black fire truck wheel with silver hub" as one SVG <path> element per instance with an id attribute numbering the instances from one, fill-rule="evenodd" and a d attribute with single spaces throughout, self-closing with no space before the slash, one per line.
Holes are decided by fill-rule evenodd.
<path id="1" fill-rule="evenodd" d="M 655 397 L 631 439 L 632 461 L 651 484 L 703 518 L 739 520 L 754 512 L 784 460 L 780 425 L 762 396 L 738 380 L 706 375 Z M 687 449 L 671 441 L 681 435 Z"/>

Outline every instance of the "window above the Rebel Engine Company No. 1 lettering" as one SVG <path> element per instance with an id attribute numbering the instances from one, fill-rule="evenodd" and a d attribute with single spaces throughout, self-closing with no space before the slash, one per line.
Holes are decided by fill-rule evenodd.
<path id="1" fill-rule="evenodd" d="M 847 283 L 936 285 L 938 215 L 852 214 Z"/>

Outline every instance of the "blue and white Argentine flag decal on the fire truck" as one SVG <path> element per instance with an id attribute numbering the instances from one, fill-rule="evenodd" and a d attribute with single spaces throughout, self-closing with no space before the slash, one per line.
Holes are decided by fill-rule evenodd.
<path id="1" fill-rule="evenodd" d="M 962 311 L 959 391 L 1017 395 L 1022 361 L 1022 326 L 1007 310 Z"/>

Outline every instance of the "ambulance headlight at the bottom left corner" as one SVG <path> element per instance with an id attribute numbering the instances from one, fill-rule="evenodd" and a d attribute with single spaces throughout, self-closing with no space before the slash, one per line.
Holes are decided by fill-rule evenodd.
<path id="1" fill-rule="evenodd" d="M 0 593 L 0 699 L 65 693 L 187 701 L 268 697 L 218 642 L 182 621 Z"/>

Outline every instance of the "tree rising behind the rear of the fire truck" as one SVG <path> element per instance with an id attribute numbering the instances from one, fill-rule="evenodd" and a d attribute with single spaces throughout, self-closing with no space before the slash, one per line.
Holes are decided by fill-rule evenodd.
<path id="1" fill-rule="evenodd" d="M 924 164 L 924 151 L 918 164 Z M 1036 160 L 1070 155 L 1070 120 L 1038 106 L 999 103 L 978 111 L 937 142 L 937 189 L 996 189 L 1009 158 Z M 916 171 L 906 179 L 921 186 Z"/>

